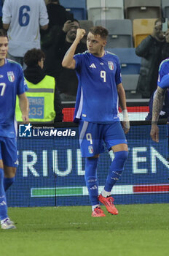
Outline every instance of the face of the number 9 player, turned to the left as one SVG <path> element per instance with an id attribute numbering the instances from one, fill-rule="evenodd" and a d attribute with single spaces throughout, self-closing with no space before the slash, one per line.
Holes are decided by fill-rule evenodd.
<path id="1" fill-rule="evenodd" d="M 89 32 L 87 35 L 87 49 L 95 56 L 102 56 L 103 48 L 106 45 L 106 40 L 101 38 L 99 34 L 92 34 Z"/>

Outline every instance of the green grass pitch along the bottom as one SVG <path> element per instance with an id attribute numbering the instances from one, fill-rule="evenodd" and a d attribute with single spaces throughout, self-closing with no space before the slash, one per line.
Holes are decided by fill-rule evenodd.
<path id="1" fill-rule="evenodd" d="M 0 230 L 1 256 L 168 256 L 169 205 L 117 206 L 90 217 L 90 206 L 9 208 L 17 230 Z"/>

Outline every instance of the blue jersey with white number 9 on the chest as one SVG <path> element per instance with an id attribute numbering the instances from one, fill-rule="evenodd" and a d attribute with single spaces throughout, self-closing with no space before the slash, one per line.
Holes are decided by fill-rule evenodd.
<path id="1" fill-rule="evenodd" d="M 105 50 L 103 57 L 88 51 L 74 56 L 79 86 L 74 121 L 119 121 L 117 85 L 122 82 L 119 59 Z"/>

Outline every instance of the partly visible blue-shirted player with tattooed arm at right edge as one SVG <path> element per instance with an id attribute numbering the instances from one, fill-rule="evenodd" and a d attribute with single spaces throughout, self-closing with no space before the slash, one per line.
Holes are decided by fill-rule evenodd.
<path id="1" fill-rule="evenodd" d="M 169 90 L 169 58 L 161 62 L 159 68 L 159 78 L 157 91 L 153 101 L 152 108 L 152 129 L 150 135 L 152 140 L 159 142 L 159 128 L 157 122 L 162 110 L 163 102 L 165 99 L 165 93 Z M 167 106 L 169 108 L 169 106 Z"/>

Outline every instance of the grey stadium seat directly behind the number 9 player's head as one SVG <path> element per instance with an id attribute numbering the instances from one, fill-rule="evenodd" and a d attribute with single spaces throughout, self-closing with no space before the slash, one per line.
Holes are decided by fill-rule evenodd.
<path id="1" fill-rule="evenodd" d="M 106 48 L 132 48 L 133 33 L 131 20 L 96 20 L 96 26 L 109 31 Z"/>

